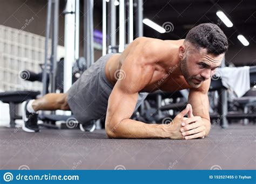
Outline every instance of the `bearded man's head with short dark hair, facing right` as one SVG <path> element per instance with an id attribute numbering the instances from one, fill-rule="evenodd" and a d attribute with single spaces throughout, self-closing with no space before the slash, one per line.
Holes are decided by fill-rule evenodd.
<path id="1" fill-rule="evenodd" d="M 227 51 L 227 37 L 211 23 L 193 27 L 179 47 L 180 69 L 187 83 L 198 88 L 201 82 L 210 79 Z"/>

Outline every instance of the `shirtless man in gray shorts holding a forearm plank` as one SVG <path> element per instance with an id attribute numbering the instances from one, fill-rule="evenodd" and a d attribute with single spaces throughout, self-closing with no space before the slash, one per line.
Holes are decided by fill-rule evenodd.
<path id="1" fill-rule="evenodd" d="M 185 40 L 137 38 L 122 53 L 102 56 L 67 93 L 24 102 L 23 130 L 39 130 L 38 110 L 62 109 L 73 112 L 82 130 L 106 117 L 109 138 L 204 138 L 211 127 L 207 91 L 227 48 L 223 31 L 210 23 L 191 29 Z M 148 93 L 181 89 L 190 89 L 188 104 L 170 124 L 130 119 Z"/>

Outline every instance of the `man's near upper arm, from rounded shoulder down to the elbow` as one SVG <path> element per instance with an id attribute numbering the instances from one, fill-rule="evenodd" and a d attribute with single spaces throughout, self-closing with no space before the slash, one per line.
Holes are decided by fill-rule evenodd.
<path id="1" fill-rule="evenodd" d="M 123 62 L 120 72 L 124 77 L 117 81 L 109 97 L 106 130 L 131 117 L 138 100 L 138 91 L 151 81 L 154 68 L 145 59 L 139 51 L 131 51 Z"/>

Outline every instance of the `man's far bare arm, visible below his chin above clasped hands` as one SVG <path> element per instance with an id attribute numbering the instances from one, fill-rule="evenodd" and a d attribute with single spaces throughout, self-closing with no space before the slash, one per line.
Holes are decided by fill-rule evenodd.
<path id="1" fill-rule="evenodd" d="M 204 81 L 198 89 L 190 89 L 188 95 L 188 103 L 192 105 L 193 115 L 208 119 L 209 115 L 209 100 L 208 89 L 210 88 L 211 79 Z"/>

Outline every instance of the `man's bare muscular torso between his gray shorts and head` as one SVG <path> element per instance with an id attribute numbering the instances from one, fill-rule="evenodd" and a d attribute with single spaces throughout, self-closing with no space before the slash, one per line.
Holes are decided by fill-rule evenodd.
<path id="1" fill-rule="evenodd" d="M 124 62 L 129 62 L 127 58 L 133 58 L 134 62 L 126 63 L 128 67 L 144 65 L 151 66 L 153 70 L 151 80 L 144 84 L 140 91 L 150 93 L 159 89 L 173 91 L 188 88 L 183 75 L 179 72 L 178 48 L 183 42 L 184 40 L 138 38 L 129 44 L 123 53 L 111 56 L 106 63 L 106 77 L 114 86 L 118 80 L 117 75 L 126 75 L 120 70 Z M 146 58 L 142 58 L 145 57 L 145 53 L 147 53 Z M 137 85 L 140 85 L 140 81 Z"/>

